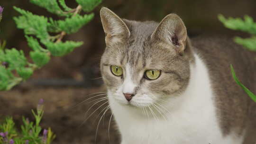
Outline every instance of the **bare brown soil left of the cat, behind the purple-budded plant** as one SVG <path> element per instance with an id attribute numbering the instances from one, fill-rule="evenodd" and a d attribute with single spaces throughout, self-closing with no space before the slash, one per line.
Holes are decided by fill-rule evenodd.
<path id="1" fill-rule="evenodd" d="M 101 120 L 95 142 L 96 128 L 102 108 L 98 109 L 89 119 L 85 113 L 95 102 L 83 100 L 96 96 L 92 93 L 105 91 L 103 87 L 96 88 L 16 88 L 11 91 L 0 92 L 0 117 L 13 116 L 17 126 L 21 124 L 22 116 L 33 119 L 31 109 L 37 108 L 37 101 L 44 99 L 45 115 L 42 119 L 43 128 L 51 127 L 57 135 L 53 144 L 119 144 L 119 135 L 115 129 L 114 120 L 110 123 L 110 140 L 108 125 L 110 110 Z M 104 97 L 99 96 L 96 98 Z M 95 99 L 96 99 L 95 98 Z M 99 108 L 105 101 L 101 101 L 91 108 L 89 114 Z M 102 113 L 101 113 L 102 115 Z M 99 116 L 101 116 L 99 115 Z"/>

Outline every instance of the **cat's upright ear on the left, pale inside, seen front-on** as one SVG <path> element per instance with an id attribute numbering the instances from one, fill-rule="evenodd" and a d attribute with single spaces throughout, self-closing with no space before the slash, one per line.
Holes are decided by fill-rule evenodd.
<path id="1" fill-rule="evenodd" d="M 130 36 L 124 21 L 108 8 L 101 8 L 101 23 L 106 34 L 106 43 L 120 41 Z"/>

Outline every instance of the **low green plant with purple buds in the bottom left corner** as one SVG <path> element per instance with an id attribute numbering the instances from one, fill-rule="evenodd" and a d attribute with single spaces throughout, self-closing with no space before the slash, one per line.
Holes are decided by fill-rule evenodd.
<path id="1" fill-rule="evenodd" d="M 51 144 L 55 138 L 55 134 L 48 130 L 42 130 L 40 126 L 41 119 L 44 114 L 43 99 L 39 100 L 37 111 L 32 109 L 32 113 L 36 119 L 31 122 L 22 117 L 23 125 L 21 126 L 21 133 L 15 128 L 15 124 L 11 117 L 7 117 L 5 121 L 0 124 L 0 144 Z M 42 133 L 42 135 L 41 135 Z"/>

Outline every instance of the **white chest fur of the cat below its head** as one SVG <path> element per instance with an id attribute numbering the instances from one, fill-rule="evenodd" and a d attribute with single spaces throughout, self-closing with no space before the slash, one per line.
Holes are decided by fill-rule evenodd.
<path id="1" fill-rule="evenodd" d="M 119 104 L 110 96 L 121 144 L 242 144 L 243 136 L 222 136 L 207 68 L 195 57 L 187 89 L 176 99 L 167 100 L 167 119 L 140 117 L 132 107 Z"/>

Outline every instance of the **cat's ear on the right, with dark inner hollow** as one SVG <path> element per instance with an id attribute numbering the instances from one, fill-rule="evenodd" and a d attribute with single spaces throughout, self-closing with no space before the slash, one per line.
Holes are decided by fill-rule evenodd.
<path id="1" fill-rule="evenodd" d="M 178 15 L 169 14 L 159 23 L 151 38 L 174 45 L 176 52 L 182 55 L 186 47 L 187 30 Z"/>

